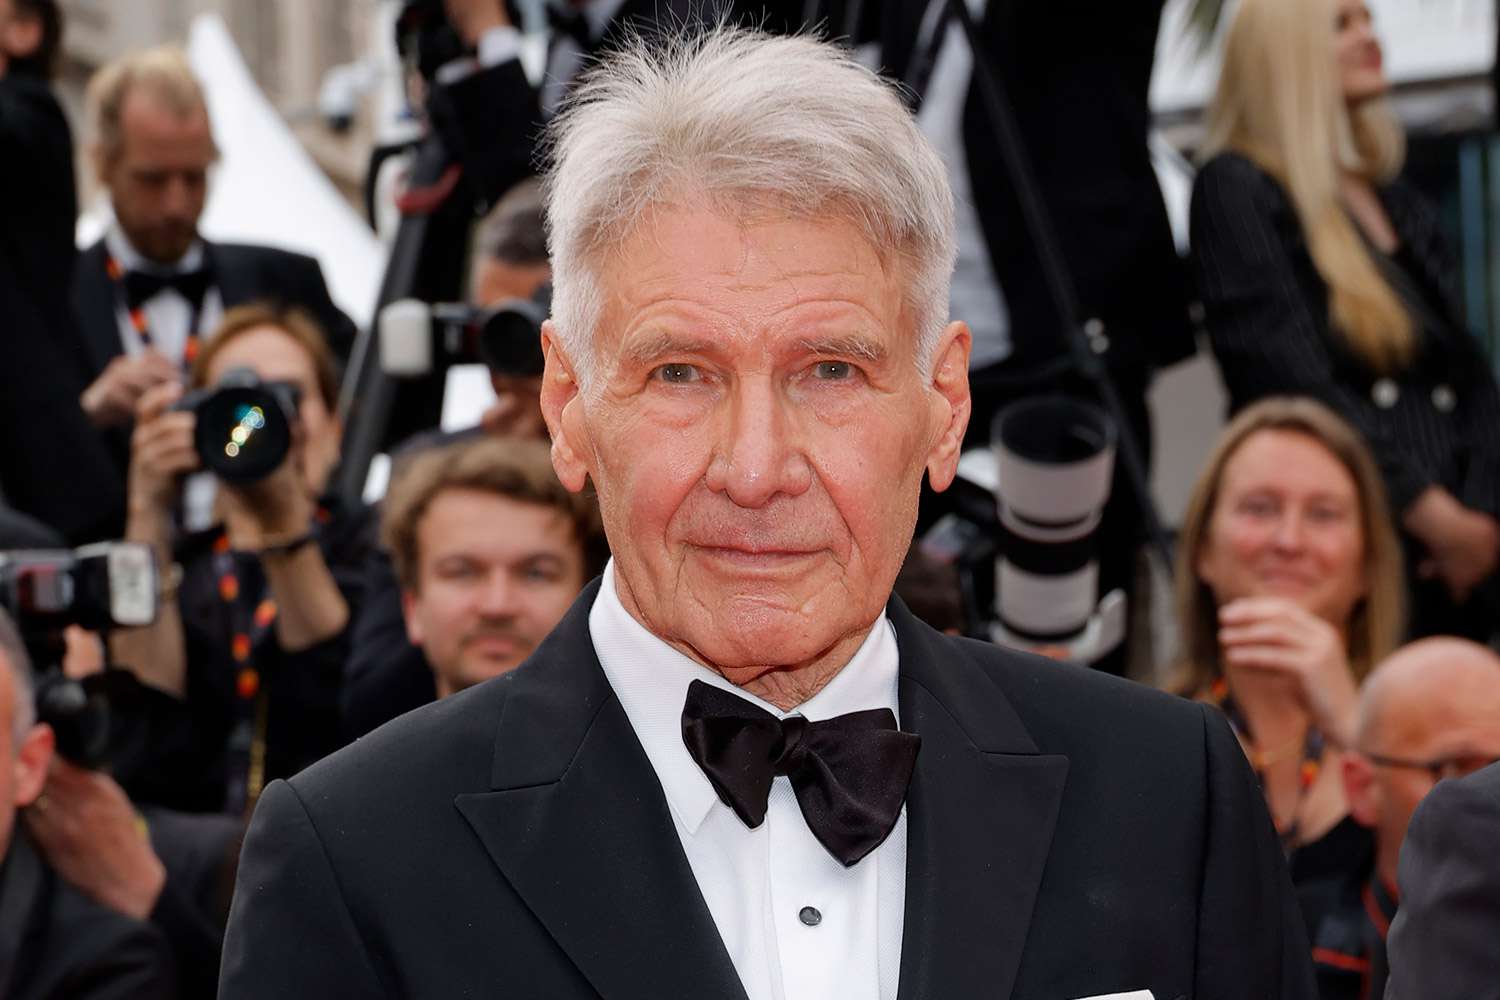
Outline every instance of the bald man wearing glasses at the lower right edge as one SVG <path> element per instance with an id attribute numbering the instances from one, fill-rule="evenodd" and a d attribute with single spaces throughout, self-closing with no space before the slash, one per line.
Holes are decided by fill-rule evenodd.
<path id="1" fill-rule="evenodd" d="M 1424 639 L 1388 657 L 1359 696 L 1344 792 L 1374 852 L 1350 874 L 1299 888 L 1323 1000 L 1380 1000 L 1396 861 L 1412 814 L 1443 778 L 1500 757 L 1500 657 L 1461 639 Z"/>

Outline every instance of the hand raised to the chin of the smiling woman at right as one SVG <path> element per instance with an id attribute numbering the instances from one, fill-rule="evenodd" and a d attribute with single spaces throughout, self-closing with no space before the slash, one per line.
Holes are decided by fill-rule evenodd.
<path id="1" fill-rule="evenodd" d="M 1359 687 L 1336 628 L 1286 598 L 1248 597 L 1220 609 L 1220 648 L 1228 667 L 1294 681 L 1312 724 L 1352 744 Z"/>

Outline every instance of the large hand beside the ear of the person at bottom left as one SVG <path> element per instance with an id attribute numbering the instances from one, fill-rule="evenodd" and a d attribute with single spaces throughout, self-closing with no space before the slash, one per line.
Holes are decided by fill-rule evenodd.
<path id="1" fill-rule="evenodd" d="M 138 921 L 156 909 L 166 868 L 114 778 L 54 757 L 26 823 L 57 874 L 84 895 Z"/>

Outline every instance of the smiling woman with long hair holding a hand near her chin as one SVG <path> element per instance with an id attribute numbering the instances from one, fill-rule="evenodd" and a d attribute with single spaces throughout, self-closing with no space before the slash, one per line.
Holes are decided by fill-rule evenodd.
<path id="1" fill-rule="evenodd" d="M 1358 685 L 1402 631 L 1401 546 L 1359 435 L 1311 399 L 1263 399 L 1224 430 L 1178 552 L 1174 690 L 1214 702 L 1260 777 L 1293 877 L 1356 864 L 1336 754 Z"/>

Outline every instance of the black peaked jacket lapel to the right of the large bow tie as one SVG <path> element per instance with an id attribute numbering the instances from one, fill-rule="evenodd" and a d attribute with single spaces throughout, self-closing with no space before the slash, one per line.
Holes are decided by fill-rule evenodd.
<path id="1" fill-rule="evenodd" d="M 900 1000 L 1008 997 L 1062 802 L 1068 759 L 1042 754 L 984 667 L 890 606 L 902 729 L 922 738 L 906 799 Z"/>

